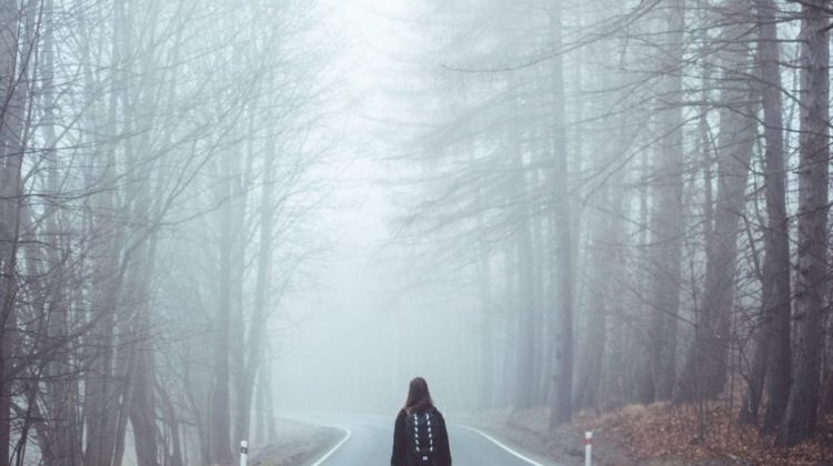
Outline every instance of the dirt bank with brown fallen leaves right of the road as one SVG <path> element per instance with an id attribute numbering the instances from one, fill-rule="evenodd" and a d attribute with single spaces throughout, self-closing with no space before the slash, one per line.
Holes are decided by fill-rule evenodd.
<path id="1" fill-rule="evenodd" d="M 593 465 L 833 465 L 833 419 L 821 423 L 814 440 L 782 448 L 754 427 L 739 426 L 721 403 L 696 409 L 630 405 L 602 415 L 580 415 L 555 430 L 549 428 L 548 409 L 490 411 L 456 418 L 565 466 L 583 464 L 586 430 L 593 432 Z"/>

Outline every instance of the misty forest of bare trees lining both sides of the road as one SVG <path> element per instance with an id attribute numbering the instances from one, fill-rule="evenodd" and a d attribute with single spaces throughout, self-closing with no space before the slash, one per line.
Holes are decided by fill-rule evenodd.
<path id="1" fill-rule="evenodd" d="M 830 442 L 831 18 L 0 0 L 0 464 L 231 464 L 280 437 L 319 317 L 378 338 L 310 337 L 341 388 L 293 393 L 399 399 L 428 358 L 461 412 L 689 406 L 707 443 L 719 405 Z M 362 266 L 410 297 L 367 317 L 322 282 L 371 191 Z M 328 293 L 339 317 L 299 297 Z"/>

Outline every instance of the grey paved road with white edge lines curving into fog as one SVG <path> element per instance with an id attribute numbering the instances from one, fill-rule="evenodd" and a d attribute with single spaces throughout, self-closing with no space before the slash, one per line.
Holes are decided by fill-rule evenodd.
<path id="1" fill-rule="evenodd" d="M 384 466 L 391 460 L 394 416 L 357 414 L 318 414 L 293 416 L 310 424 L 338 427 L 344 432 L 343 443 L 314 466 Z M 522 459 L 484 435 L 449 423 L 451 456 L 454 466 L 551 466 Z"/>

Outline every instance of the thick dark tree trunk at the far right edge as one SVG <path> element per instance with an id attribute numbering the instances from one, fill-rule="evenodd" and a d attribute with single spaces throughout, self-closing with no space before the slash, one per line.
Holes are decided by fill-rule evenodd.
<path id="1" fill-rule="evenodd" d="M 830 19 L 825 0 L 802 6 L 799 244 L 795 282 L 794 384 L 779 433 L 784 445 L 813 436 L 819 413 L 823 322 L 827 291 L 827 185 L 830 163 Z"/>

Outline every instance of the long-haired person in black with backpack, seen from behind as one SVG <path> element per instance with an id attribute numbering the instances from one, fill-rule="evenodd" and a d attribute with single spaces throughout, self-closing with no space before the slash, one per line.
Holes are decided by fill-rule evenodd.
<path id="1" fill-rule="evenodd" d="M 422 377 L 411 381 L 405 405 L 397 415 L 391 466 L 451 466 L 445 419 Z"/>

